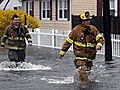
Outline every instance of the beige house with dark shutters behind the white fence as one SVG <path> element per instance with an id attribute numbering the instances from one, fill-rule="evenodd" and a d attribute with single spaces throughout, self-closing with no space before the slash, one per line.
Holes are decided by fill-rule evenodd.
<path id="1" fill-rule="evenodd" d="M 23 10 L 38 18 L 40 28 L 71 30 L 72 15 L 103 15 L 103 0 L 22 0 Z M 120 17 L 120 0 L 110 1 L 110 15 Z"/>

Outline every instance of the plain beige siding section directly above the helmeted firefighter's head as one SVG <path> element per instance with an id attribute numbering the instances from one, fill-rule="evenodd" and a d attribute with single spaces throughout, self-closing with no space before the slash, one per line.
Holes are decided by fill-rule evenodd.
<path id="1" fill-rule="evenodd" d="M 71 14 L 79 15 L 88 10 L 91 14 L 97 15 L 96 0 L 71 0 L 71 3 Z"/>

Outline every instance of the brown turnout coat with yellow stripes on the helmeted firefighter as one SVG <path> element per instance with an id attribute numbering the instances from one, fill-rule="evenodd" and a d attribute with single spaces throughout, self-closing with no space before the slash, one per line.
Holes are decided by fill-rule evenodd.
<path id="1" fill-rule="evenodd" d="M 69 47 L 73 44 L 75 60 L 93 60 L 96 56 L 96 45 L 102 46 L 104 38 L 96 27 L 89 25 L 83 28 L 81 24 L 77 25 L 66 38 L 60 55 L 64 55 Z"/>

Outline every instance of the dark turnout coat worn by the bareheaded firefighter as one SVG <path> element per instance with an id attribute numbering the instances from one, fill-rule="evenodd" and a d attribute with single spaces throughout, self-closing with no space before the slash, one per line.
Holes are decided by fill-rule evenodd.
<path id="1" fill-rule="evenodd" d="M 24 25 L 15 27 L 12 23 L 6 28 L 2 38 L 1 46 L 5 45 L 7 40 L 7 48 L 12 50 L 25 50 L 26 40 L 32 42 L 32 38 Z"/>

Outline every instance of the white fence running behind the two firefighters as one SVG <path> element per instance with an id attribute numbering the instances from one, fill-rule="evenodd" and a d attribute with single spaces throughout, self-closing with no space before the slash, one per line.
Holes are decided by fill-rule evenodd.
<path id="1" fill-rule="evenodd" d="M 30 31 L 33 39 L 33 45 L 60 49 L 69 31 L 60 31 L 56 29 L 35 29 Z M 111 35 L 112 55 L 120 57 L 120 35 Z M 72 46 L 69 50 L 72 50 Z M 105 54 L 105 45 L 102 50 L 98 50 L 97 54 Z"/>

